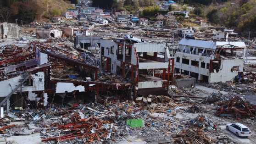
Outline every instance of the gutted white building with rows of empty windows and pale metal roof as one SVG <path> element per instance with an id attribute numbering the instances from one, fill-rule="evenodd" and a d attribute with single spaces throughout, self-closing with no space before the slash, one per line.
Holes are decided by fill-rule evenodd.
<path id="1" fill-rule="evenodd" d="M 175 52 L 175 72 L 206 83 L 232 81 L 243 74 L 245 48 L 245 42 L 182 39 Z"/>

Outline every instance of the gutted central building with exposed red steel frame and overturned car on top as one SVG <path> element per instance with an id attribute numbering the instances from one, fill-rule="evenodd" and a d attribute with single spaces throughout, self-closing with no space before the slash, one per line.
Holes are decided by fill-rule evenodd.
<path id="1" fill-rule="evenodd" d="M 131 36 L 132 37 L 132 36 Z M 138 43 L 128 39 L 101 39 L 101 67 L 113 74 L 128 77 L 135 84 L 136 94 L 166 95 L 166 88 L 173 85 L 173 59 L 163 44 Z M 130 37 L 129 37 L 130 38 Z M 103 59 L 106 62 L 103 63 Z"/>

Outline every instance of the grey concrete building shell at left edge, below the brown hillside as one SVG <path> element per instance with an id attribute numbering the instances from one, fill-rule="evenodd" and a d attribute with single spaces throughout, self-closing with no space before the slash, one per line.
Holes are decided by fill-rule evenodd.
<path id="1" fill-rule="evenodd" d="M 2 39 L 18 38 L 19 26 L 18 24 L 1 24 Z"/>

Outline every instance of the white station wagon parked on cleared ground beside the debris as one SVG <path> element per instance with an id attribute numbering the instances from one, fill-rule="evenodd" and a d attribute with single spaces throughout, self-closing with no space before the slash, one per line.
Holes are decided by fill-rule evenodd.
<path id="1" fill-rule="evenodd" d="M 226 124 L 227 130 L 235 133 L 236 136 L 248 137 L 251 136 L 251 131 L 248 127 L 241 123 Z"/>

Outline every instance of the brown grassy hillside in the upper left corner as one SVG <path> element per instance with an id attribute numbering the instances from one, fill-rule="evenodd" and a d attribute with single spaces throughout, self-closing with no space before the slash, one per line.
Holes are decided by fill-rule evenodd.
<path id="1" fill-rule="evenodd" d="M 63 0 L 0 0 L 0 21 L 15 23 L 42 22 L 45 18 L 60 16 L 73 8 Z"/>

